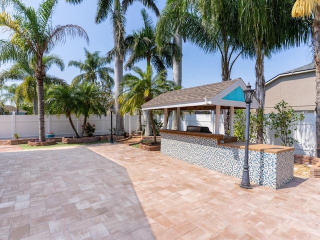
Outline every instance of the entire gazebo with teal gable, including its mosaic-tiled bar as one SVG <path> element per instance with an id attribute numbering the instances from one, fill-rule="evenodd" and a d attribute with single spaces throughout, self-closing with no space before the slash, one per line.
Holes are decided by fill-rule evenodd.
<path id="1" fill-rule="evenodd" d="M 161 129 L 163 155 L 197 164 L 227 175 L 240 178 L 243 171 L 244 142 L 232 137 L 233 111 L 245 108 L 241 78 L 189 87 L 160 94 L 144 103 L 142 110 L 164 110 L 164 128 Z M 253 97 L 251 108 L 258 108 Z M 219 134 L 220 110 L 228 109 L 230 136 Z M 177 110 L 177 130 L 166 129 L 168 110 Z M 181 131 L 180 110 L 215 110 L 214 133 L 202 131 L 201 126 L 189 126 Z M 294 148 L 250 143 L 248 165 L 250 181 L 277 189 L 293 179 Z"/>

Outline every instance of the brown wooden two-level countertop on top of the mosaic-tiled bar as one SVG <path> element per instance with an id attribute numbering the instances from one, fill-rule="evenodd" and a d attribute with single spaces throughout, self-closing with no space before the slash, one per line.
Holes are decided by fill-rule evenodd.
<path id="1" fill-rule="evenodd" d="M 212 134 L 212 133 L 194 132 L 194 131 L 177 131 L 177 130 L 169 130 L 169 129 L 160 129 L 160 132 L 215 138 L 215 139 L 217 139 L 216 142 L 218 145 L 227 146 L 227 147 L 234 147 L 234 148 L 241 148 L 241 149 L 245 148 L 245 144 L 242 141 L 229 141 L 229 142 L 219 143 L 220 141 L 223 141 L 222 134 Z M 277 154 L 277 153 L 286 152 L 286 151 L 294 151 L 294 147 L 249 143 L 249 150 Z"/>

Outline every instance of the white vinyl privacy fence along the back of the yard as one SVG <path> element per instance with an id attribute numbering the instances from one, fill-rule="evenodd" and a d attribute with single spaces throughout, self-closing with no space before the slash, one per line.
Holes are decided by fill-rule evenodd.
<path id="1" fill-rule="evenodd" d="M 316 147 L 315 136 L 315 114 L 304 113 L 305 119 L 297 127 L 298 130 L 293 132 L 293 137 L 299 143 L 295 143 L 295 153 L 302 155 L 314 156 Z M 115 115 L 112 115 L 112 124 L 115 127 Z M 124 129 L 131 132 L 136 129 L 137 115 L 123 116 Z M 163 115 L 156 115 L 157 120 L 164 122 Z M 181 130 L 186 130 L 187 125 L 207 126 L 211 132 L 214 132 L 214 113 L 210 114 L 184 114 L 180 120 Z M 68 118 L 61 115 L 59 118 L 55 115 L 44 116 L 45 132 L 54 132 L 55 136 L 75 136 L 75 133 L 69 123 Z M 78 132 L 81 131 L 83 116 L 76 118 L 72 115 L 72 121 Z M 90 115 L 87 119 L 91 124 L 95 124 L 94 134 L 110 134 L 111 115 L 98 117 Z M 143 123 L 142 123 L 143 124 Z M 171 127 L 171 118 L 169 118 L 167 128 Z M 270 129 L 265 130 L 266 144 L 280 145 L 280 139 L 274 138 L 274 132 Z M 13 134 L 17 133 L 21 138 L 38 137 L 38 116 L 37 115 L 0 115 L 0 139 L 12 139 Z M 224 133 L 223 115 L 220 116 L 220 134 Z"/>

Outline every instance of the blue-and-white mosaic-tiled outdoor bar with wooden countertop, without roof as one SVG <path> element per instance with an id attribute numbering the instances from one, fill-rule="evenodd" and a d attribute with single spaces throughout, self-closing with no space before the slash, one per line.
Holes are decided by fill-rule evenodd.
<path id="1" fill-rule="evenodd" d="M 234 137 L 161 129 L 161 154 L 241 178 L 244 142 Z M 231 141 L 230 141 L 231 140 Z M 249 143 L 250 181 L 280 188 L 293 179 L 294 147 Z"/>

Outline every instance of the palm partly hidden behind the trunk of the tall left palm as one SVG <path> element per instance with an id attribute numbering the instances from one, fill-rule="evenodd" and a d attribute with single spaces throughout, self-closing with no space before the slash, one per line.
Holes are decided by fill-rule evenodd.
<path id="1" fill-rule="evenodd" d="M 64 69 L 64 63 L 62 58 L 57 55 L 47 55 L 42 58 L 45 69 L 49 69 L 53 64 L 57 65 L 60 70 Z M 33 114 L 37 114 L 37 92 L 36 92 L 36 79 L 35 79 L 35 58 L 18 59 L 9 69 L 0 72 L 0 81 L 8 80 L 21 80 L 17 86 L 17 91 L 24 97 L 28 102 L 33 104 Z M 52 75 L 46 75 L 43 83 L 49 84 L 66 84 L 66 82 L 60 78 Z"/>

